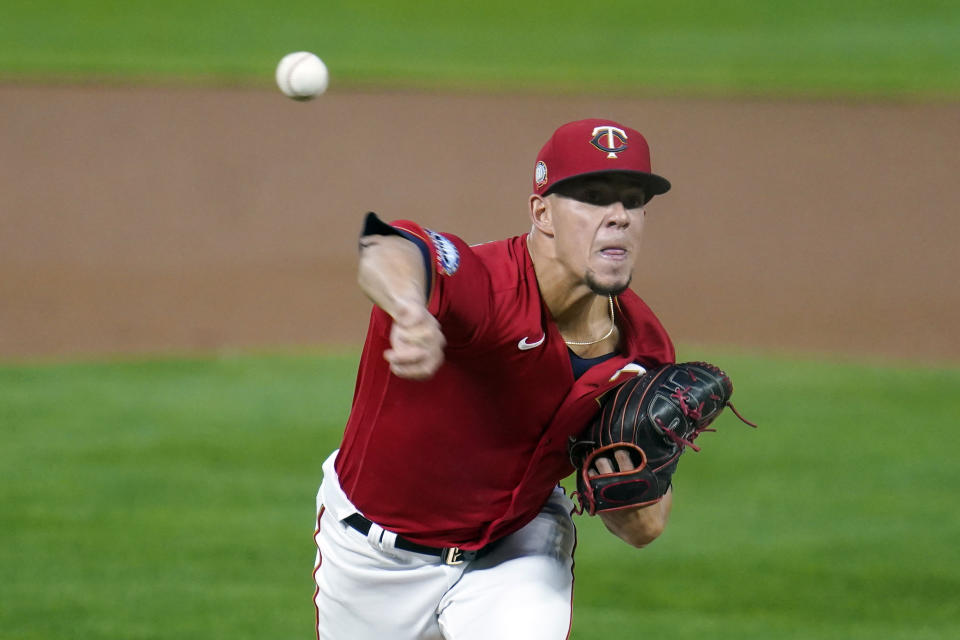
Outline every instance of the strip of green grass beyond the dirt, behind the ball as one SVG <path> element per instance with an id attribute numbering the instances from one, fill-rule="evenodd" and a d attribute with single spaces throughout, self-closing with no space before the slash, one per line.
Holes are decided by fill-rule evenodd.
<path id="1" fill-rule="evenodd" d="M 7 0 L 0 78 L 254 84 L 312 50 L 341 87 L 960 96 L 960 3 Z"/>

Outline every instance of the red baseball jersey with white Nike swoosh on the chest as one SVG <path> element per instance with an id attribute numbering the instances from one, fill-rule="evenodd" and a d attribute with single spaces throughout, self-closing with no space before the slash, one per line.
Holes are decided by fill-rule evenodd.
<path id="1" fill-rule="evenodd" d="M 431 261 L 428 305 L 445 360 L 428 380 L 390 373 L 391 318 L 374 308 L 340 484 L 370 520 L 410 540 L 477 549 L 532 520 L 573 471 L 567 445 L 624 376 L 674 361 L 673 345 L 632 291 L 615 299 L 622 353 L 574 379 L 540 297 L 526 236 L 470 247 L 400 221 Z"/>

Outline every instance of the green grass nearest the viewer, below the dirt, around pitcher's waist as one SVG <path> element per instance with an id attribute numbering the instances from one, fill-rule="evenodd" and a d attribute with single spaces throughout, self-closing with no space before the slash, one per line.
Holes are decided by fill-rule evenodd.
<path id="1" fill-rule="evenodd" d="M 738 408 L 636 551 L 579 519 L 574 637 L 960 637 L 960 370 L 703 351 Z M 0 367 L 0 637 L 312 637 L 356 355 Z"/>

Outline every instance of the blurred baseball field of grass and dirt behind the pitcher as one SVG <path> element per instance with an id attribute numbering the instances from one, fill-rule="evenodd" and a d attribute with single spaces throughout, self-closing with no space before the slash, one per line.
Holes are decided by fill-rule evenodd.
<path id="1" fill-rule="evenodd" d="M 688 454 L 648 549 L 579 520 L 573 637 L 956 637 L 958 34 L 946 1 L 6 2 L 0 637 L 312 637 L 363 214 L 524 233 L 584 117 L 646 135 L 633 286 L 761 428 Z"/>

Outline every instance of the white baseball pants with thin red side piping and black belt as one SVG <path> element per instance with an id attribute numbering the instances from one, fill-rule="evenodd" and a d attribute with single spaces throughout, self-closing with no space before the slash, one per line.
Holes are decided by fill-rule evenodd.
<path id="1" fill-rule="evenodd" d="M 573 599 L 573 503 L 560 488 L 540 514 L 490 553 L 459 565 L 395 549 L 374 525 L 341 520 L 356 509 L 333 459 L 317 494 L 319 640 L 564 640 Z"/>

